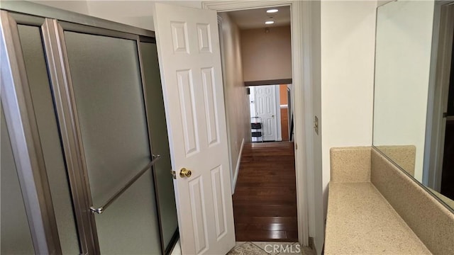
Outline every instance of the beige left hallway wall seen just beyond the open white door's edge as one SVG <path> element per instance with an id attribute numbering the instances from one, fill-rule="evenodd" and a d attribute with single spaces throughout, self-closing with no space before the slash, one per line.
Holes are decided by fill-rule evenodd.
<path id="1" fill-rule="evenodd" d="M 249 96 L 243 84 L 240 30 L 228 13 L 219 13 L 219 16 L 222 18 L 221 54 L 223 55 L 224 98 L 234 186 L 238 176 L 241 144 L 243 141 L 250 141 Z"/>

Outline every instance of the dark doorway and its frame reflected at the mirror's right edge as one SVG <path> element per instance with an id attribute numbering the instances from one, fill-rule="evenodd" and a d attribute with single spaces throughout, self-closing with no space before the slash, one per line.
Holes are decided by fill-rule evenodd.
<path id="1" fill-rule="evenodd" d="M 433 62 L 433 83 L 429 86 L 428 123 L 423 184 L 448 207 L 454 207 L 454 6 L 441 4 L 440 21 L 434 36 L 438 40 Z M 426 160 L 427 159 L 427 160 Z"/>

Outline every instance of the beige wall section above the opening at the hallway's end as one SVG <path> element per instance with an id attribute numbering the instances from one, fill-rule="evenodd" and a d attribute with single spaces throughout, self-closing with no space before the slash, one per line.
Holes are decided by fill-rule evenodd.
<path id="1" fill-rule="evenodd" d="M 292 79 L 290 26 L 241 30 L 245 81 Z"/>

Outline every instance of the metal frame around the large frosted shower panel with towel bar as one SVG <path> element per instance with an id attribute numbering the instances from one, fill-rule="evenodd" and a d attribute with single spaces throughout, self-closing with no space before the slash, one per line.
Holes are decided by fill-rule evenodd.
<path id="1" fill-rule="evenodd" d="M 99 239 L 96 231 L 95 215 L 92 210 L 90 210 L 90 208 L 93 207 L 91 195 L 92 193 L 90 191 L 88 169 L 82 142 L 82 133 L 79 126 L 77 105 L 72 85 L 70 63 L 67 57 L 65 31 L 108 36 L 112 38 L 121 38 L 135 41 L 135 45 L 137 46 L 136 53 L 138 56 L 138 64 L 140 69 L 140 81 L 144 103 L 143 107 L 145 111 L 144 118 L 147 123 L 147 129 L 147 98 L 145 91 L 145 79 L 142 68 L 143 62 L 140 54 L 140 42 L 153 42 L 154 38 L 143 35 L 135 35 L 122 31 L 110 30 L 106 28 L 96 28 L 83 24 L 70 23 L 67 21 L 58 21 L 50 18 L 46 18 L 45 25 L 43 26 L 44 44 L 47 52 L 48 63 L 50 66 L 52 91 L 55 98 L 58 98 L 58 100 L 55 100 L 55 103 L 57 108 L 57 115 L 59 116 L 58 119 L 60 123 L 62 144 L 65 149 L 65 157 L 67 159 L 67 171 L 70 174 L 71 187 L 74 188 L 74 191 L 72 192 L 74 204 L 77 203 L 77 206 L 74 208 L 74 210 L 76 211 L 77 219 L 81 222 L 80 225 L 78 223 L 81 250 L 83 251 L 83 253 L 99 254 Z M 147 135 L 150 155 L 153 155 L 149 129 Z M 152 159 L 150 159 L 150 161 L 151 160 Z M 155 183 L 154 180 L 153 182 Z M 157 222 L 159 225 L 158 227 L 160 227 L 160 239 L 162 244 L 162 227 L 160 225 L 160 213 L 157 204 L 156 187 L 155 200 L 157 205 Z M 162 245 L 161 250 L 164 250 L 164 247 L 162 247 Z"/>

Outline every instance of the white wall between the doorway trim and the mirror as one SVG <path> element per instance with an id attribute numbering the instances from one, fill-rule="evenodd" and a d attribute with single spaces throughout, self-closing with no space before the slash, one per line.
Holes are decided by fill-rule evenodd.
<path id="1" fill-rule="evenodd" d="M 372 145 L 377 1 L 321 2 L 321 137 L 326 213 L 329 149 Z"/>

